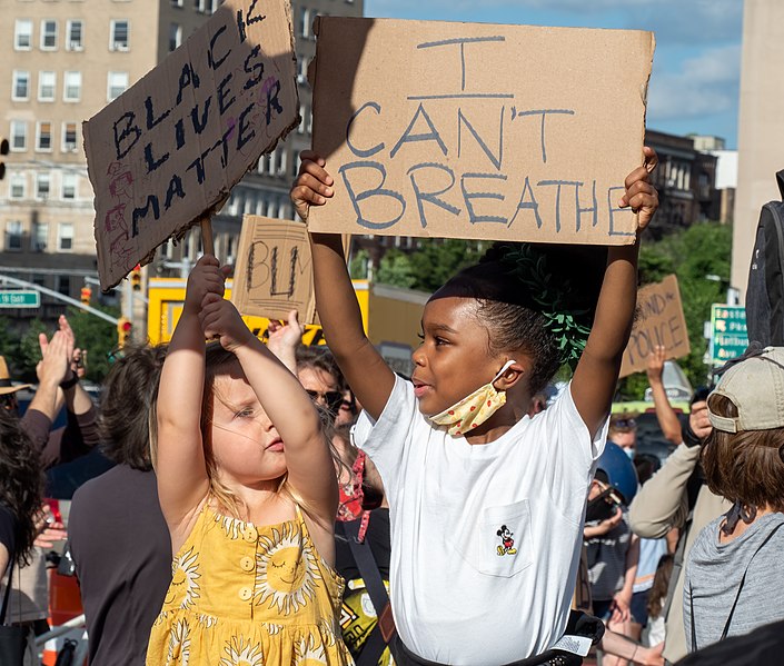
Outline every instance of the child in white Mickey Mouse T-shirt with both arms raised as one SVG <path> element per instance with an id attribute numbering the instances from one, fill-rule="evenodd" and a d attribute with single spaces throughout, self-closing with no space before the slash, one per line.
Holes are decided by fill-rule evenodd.
<path id="1" fill-rule="evenodd" d="M 641 230 L 657 207 L 655 163 L 646 149 L 621 201 Z M 304 219 L 334 193 L 325 166 L 302 153 L 291 198 Z M 570 289 L 533 249 L 460 272 L 425 307 L 409 382 L 365 336 L 340 237 L 314 233 L 311 243 L 325 336 L 376 421 L 364 448 L 390 506 L 403 658 L 497 665 L 547 650 L 567 624 L 585 498 L 635 309 L 638 242 L 609 248 L 570 389 L 534 418 L 532 396 L 578 355 L 586 322 L 563 304 L 586 276 Z"/>

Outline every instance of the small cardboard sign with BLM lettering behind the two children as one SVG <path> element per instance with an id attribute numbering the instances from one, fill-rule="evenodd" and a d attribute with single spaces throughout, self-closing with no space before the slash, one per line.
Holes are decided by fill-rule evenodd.
<path id="1" fill-rule="evenodd" d="M 302 324 L 314 322 L 312 261 L 302 222 L 246 215 L 237 257 L 231 302 L 241 315 L 286 321 L 296 309 Z"/>

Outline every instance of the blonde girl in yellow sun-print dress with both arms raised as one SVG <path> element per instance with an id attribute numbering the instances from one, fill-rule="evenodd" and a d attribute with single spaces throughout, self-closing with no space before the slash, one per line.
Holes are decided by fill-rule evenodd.
<path id="1" fill-rule="evenodd" d="M 346 664 L 329 446 L 297 378 L 222 292 L 202 257 L 161 375 L 156 469 L 177 555 L 147 663 Z M 206 354 L 205 338 L 219 339 Z"/>

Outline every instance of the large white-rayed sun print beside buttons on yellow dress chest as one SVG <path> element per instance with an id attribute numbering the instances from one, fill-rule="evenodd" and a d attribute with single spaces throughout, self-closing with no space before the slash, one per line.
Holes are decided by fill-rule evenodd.
<path id="1" fill-rule="evenodd" d="M 255 604 L 289 616 L 316 597 L 321 579 L 312 547 L 305 543 L 299 525 L 284 523 L 274 527 L 271 536 L 259 538 L 256 554 Z"/>

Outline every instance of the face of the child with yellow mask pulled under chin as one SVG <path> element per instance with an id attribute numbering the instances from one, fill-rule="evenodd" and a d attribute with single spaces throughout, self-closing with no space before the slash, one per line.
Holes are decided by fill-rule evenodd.
<path id="1" fill-rule="evenodd" d="M 421 318 L 423 342 L 411 355 L 419 411 L 433 416 L 455 405 L 498 372 L 506 357 L 490 356 L 489 332 L 473 298 L 430 300 Z"/>

